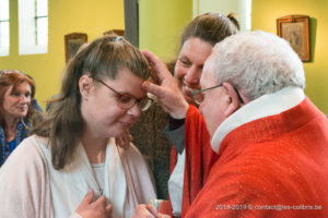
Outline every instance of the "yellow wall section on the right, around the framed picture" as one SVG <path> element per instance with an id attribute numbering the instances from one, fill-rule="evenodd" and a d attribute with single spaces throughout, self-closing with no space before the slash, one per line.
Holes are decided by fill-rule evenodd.
<path id="1" fill-rule="evenodd" d="M 304 63 L 306 95 L 328 114 L 328 1 L 253 0 L 251 28 L 277 34 L 276 19 L 290 14 L 311 16 L 312 62 Z"/>

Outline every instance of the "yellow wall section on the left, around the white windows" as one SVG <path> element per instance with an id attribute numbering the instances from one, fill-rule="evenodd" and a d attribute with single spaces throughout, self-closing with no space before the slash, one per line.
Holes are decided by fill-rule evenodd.
<path id="1" fill-rule="evenodd" d="M 10 0 L 10 56 L 0 57 L 0 69 L 21 70 L 34 77 L 36 98 L 43 108 L 45 100 L 60 87 L 65 66 L 63 36 L 86 33 L 90 41 L 103 32 L 125 26 L 122 0 L 48 0 L 48 53 L 19 56 L 17 0 Z"/>

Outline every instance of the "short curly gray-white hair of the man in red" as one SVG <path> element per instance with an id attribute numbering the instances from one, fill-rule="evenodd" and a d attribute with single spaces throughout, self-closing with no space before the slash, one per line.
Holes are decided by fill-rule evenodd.
<path id="1" fill-rule="evenodd" d="M 288 86 L 305 87 L 302 61 L 289 43 L 261 31 L 225 38 L 213 48 L 215 76 L 248 100 Z"/>

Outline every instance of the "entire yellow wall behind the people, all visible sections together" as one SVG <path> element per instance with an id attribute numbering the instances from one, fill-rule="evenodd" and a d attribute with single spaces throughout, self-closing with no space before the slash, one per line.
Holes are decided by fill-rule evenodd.
<path id="1" fill-rule="evenodd" d="M 328 1 L 253 0 L 251 28 L 276 34 L 276 19 L 306 14 L 311 20 L 313 61 L 304 63 L 307 96 L 328 113 Z M 180 33 L 192 19 L 192 0 L 139 0 L 140 48 L 163 59 L 176 56 Z M 122 0 L 49 0 L 48 53 L 19 56 L 17 0 L 10 1 L 10 56 L 0 57 L 0 69 L 31 74 L 37 84 L 36 98 L 45 100 L 59 90 L 65 66 L 63 36 L 86 33 L 89 40 L 112 28 L 124 28 Z"/>

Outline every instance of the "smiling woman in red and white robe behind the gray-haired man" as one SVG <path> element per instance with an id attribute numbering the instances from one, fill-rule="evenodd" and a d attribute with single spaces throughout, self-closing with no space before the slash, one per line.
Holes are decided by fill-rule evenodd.
<path id="1" fill-rule="evenodd" d="M 186 26 L 174 70 L 176 81 L 174 85 L 178 86 L 174 93 L 183 95 L 187 101 L 183 107 L 178 106 L 178 113 L 171 110 L 179 104 L 168 98 L 172 94 L 172 81 L 163 82 L 162 87 L 157 88 L 154 84 L 143 86 L 150 93 L 156 89 L 159 102 L 171 116 L 164 133 L 174 146 L 171 155 L 168 193 L 172 213 L 176 217 L 186 215 L 218 158 L 211 149 L 204 119 L 195 107 L 197 104 L 194 102 L 191 93 L 200 89 L 202 66 L 211 55 L 213 46 L 236 34 L 238 29 L 238 22 L 233 14 L 225 16 L 220 13 L 200 14 Z M 145 51 L 144 55 L 150 59 L 150 63 L 153 63 L 153 69 L 161 65 L 159 63 L 161 61 L 151 52 Z M 166 71 L 166 68 L 159 68 L 159 70 Z M 166 94 L 165 90 L 168 93 Z"/>

